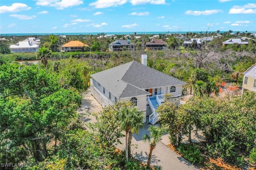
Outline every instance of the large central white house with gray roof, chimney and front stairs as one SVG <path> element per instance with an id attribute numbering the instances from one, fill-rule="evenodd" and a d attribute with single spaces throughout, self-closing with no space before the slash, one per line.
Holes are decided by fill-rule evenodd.
<path id="1" fill-rule="evenodd" d="M 92 74 L 92 96 L 103 107 L 120 101 L 131 102 L 144 112 L 144 122 L 147 120 L 154 125 L 159 118 L 156 109 L 164 102 L 164 94 L 180 99 L 186 82 L 146 65 L 147 55 L 142 55 L 142 63 L 132 61 Z"/>

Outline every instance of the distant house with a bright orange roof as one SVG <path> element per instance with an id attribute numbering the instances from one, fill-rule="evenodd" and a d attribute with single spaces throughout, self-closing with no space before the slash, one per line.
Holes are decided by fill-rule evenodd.
<path id="1" fill-rule="evenodd" d="M 70 41 L 62 45 L 62 52 L 84 51 L 84 47 L 89 47 L 89 45 L 80 41 Z"/>

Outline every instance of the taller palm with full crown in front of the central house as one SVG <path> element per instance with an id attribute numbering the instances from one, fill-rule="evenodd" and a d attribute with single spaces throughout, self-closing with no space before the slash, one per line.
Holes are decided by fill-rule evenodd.
<path id="1" fill-rule="evenodd" d="M 137 107 L 131 107 L 129 103 L 123 102 L 121 108 L 117 114 L 120 127 L 125 131 L 125 153 L 126 153 L 126 162 L 128 162 L 128 134 L 130 131 L 135 131 L 137 124 L 143 122 L 143 114 L 138 111 Z"/>

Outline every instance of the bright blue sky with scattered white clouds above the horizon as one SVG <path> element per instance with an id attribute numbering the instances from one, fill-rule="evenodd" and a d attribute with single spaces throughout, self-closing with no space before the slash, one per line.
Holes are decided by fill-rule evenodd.
<path id="1" fill-rule="evenodd" d="M 256 0 L 0 0 L 0 33 L 256 31 Z"/>

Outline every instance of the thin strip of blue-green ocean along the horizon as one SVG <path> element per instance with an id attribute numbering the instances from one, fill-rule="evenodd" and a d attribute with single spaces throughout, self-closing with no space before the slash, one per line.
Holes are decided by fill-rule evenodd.
<path id="1" fill-rule="evenodd" d="M 169 31 L 170 34 L 184 34 L 187 32 L 191 33 L 200 33 L 201 31 Z M 206 31 L 202 31 L 205 33 Z M 216 31 L 208 31 L 208 32 L 216 32 Z M 228 31 L 220 31 L 220 33 L 224 33 Z M 239 31 L 240 33 L 245 31 Z M 256 31 L 247 31 L 248 33 L 255 33 Z M 1 36 L 24 36 L 24 35 L 98 35 L 100 33 L 106 33 L 107 35 L 134 35 L 135 32 L 91 32 L 91 33 L 0 33 Z M 168 31 L 149 31 L 149 32 L 136 32 L 136 35 L 149 34 L 149 35 L 158 35 L 158 34 L 166 34 Z M 236 31 L 233 31 L 236 33 Z"/>

